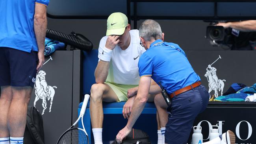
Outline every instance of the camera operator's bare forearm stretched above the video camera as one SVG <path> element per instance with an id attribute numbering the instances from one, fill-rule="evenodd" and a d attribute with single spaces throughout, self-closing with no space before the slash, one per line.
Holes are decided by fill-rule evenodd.
<path id="1" fill-rule="evenodd" d="M 230 28 L 239 31 L 256 31 L 256 20 L 246 20 L 241 22 L 229 22 Z"/>

